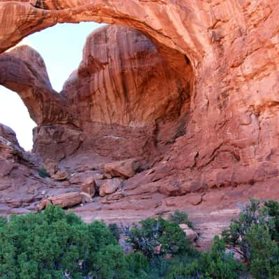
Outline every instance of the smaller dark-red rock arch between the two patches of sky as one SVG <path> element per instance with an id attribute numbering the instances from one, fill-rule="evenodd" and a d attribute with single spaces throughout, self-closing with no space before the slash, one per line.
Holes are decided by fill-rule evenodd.
<path id="1" fill-rule="evenodd" d="M 0 55 L 0 84 L 18 93 L 38 125 L 65 123 L 80 127 L 66 100 L 50 84 L 45 63 L 31 47 L 22 45 Z"/>

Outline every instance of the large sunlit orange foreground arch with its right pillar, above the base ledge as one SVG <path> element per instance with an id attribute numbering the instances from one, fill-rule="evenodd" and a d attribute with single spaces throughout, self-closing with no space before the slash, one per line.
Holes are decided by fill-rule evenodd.
<path id="1" fill-rule="evenodd" d="M 173 151 L 183 156 L 176 156 L 169 165 L 179 162 L 187 175 L 198 176 L 190 183 L 194 186 L 189 186 L 189 191 L 269 177 L 262 164 L 270 158 L 266 154 L 279 149 L 273 140 L 278 117 L 276 1 L 84 0 L 0 4 L 1 51 L 28 33 L 56 22 L 94 20 L 140 29 L 156 41 L 165 57 L 169 55 L 165 47 L 176 54 L 186 54 L 194 66 L 195 89 L 186 136 L 176 142 Z M 176 61 L 173 52 L 170 54 L 169 60 Z M 274 136 L 266 136 L 269 133 Z M 229 171 L 222 167 L 227 160 L 234 166 Z M 276 176 L 277 164 L 264 164 Z M 243 169 L 250 169 L 249 175 L 239 178 Z M 214 177 L 208 177 L 209 173 Z"/>

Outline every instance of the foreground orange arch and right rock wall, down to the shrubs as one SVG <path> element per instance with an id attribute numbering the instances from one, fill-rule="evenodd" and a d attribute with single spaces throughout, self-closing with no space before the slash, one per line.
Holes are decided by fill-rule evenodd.
<path id="1" fill-rule="evenodd" d="M 179 78 L 188 57 L 195 82 L 181 122 L 185 135 L 174 139 L 152 169 L 128 179 L 128 197 L 107 202 L 112 218 L 116 216 L 111 211 L 123 214 L 125 206 L 130 212 L 142 208 L 145 216 L 141 197 L 148 194 L 151 199 L 144 199 L 144 204 L 150 212 L 180 204 L 201 226 L 206 226 L 205 216 L 211 216 L 214 227 L 216 220 L 228 220 L 238 202 L 249 196 L 279 198 L 276 0 L 53 0 L 0 5 L 1 51 L 56 22 L 93 20 L 142 31 Z M 128 118 L 120 120 L 124 119 Z"/>

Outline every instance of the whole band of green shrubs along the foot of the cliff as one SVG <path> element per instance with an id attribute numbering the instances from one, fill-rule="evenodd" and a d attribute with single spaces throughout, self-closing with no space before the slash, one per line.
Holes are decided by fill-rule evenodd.
<path id="1" fill-rule="evenodd" d="M 211 250 L 199 252 L 179 223 L 148 218 L 124 229 L 130 252 L 119 246 L 121 231 L 102 222 L 85 224 L 74 213 L 47 206 L 44 212 L 0 218 L 1 279 L 255 279 L 279 278 L 279 204 L 251 199 Z M 236 262 L 232 252 L 243 256 Z"/>

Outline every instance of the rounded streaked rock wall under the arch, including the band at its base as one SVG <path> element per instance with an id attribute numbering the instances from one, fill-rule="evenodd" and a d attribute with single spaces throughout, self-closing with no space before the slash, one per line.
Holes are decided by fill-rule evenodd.
<path id="1" fill-rule="evenodd" d="M 116 159 L 165 150 L 189 110 L 193 71 L 184 57 L 182 63 L 179 77 L 134 29 L 111 25 L 91 33 L 61 92 L 82 123 L 82 149 Z"/>

